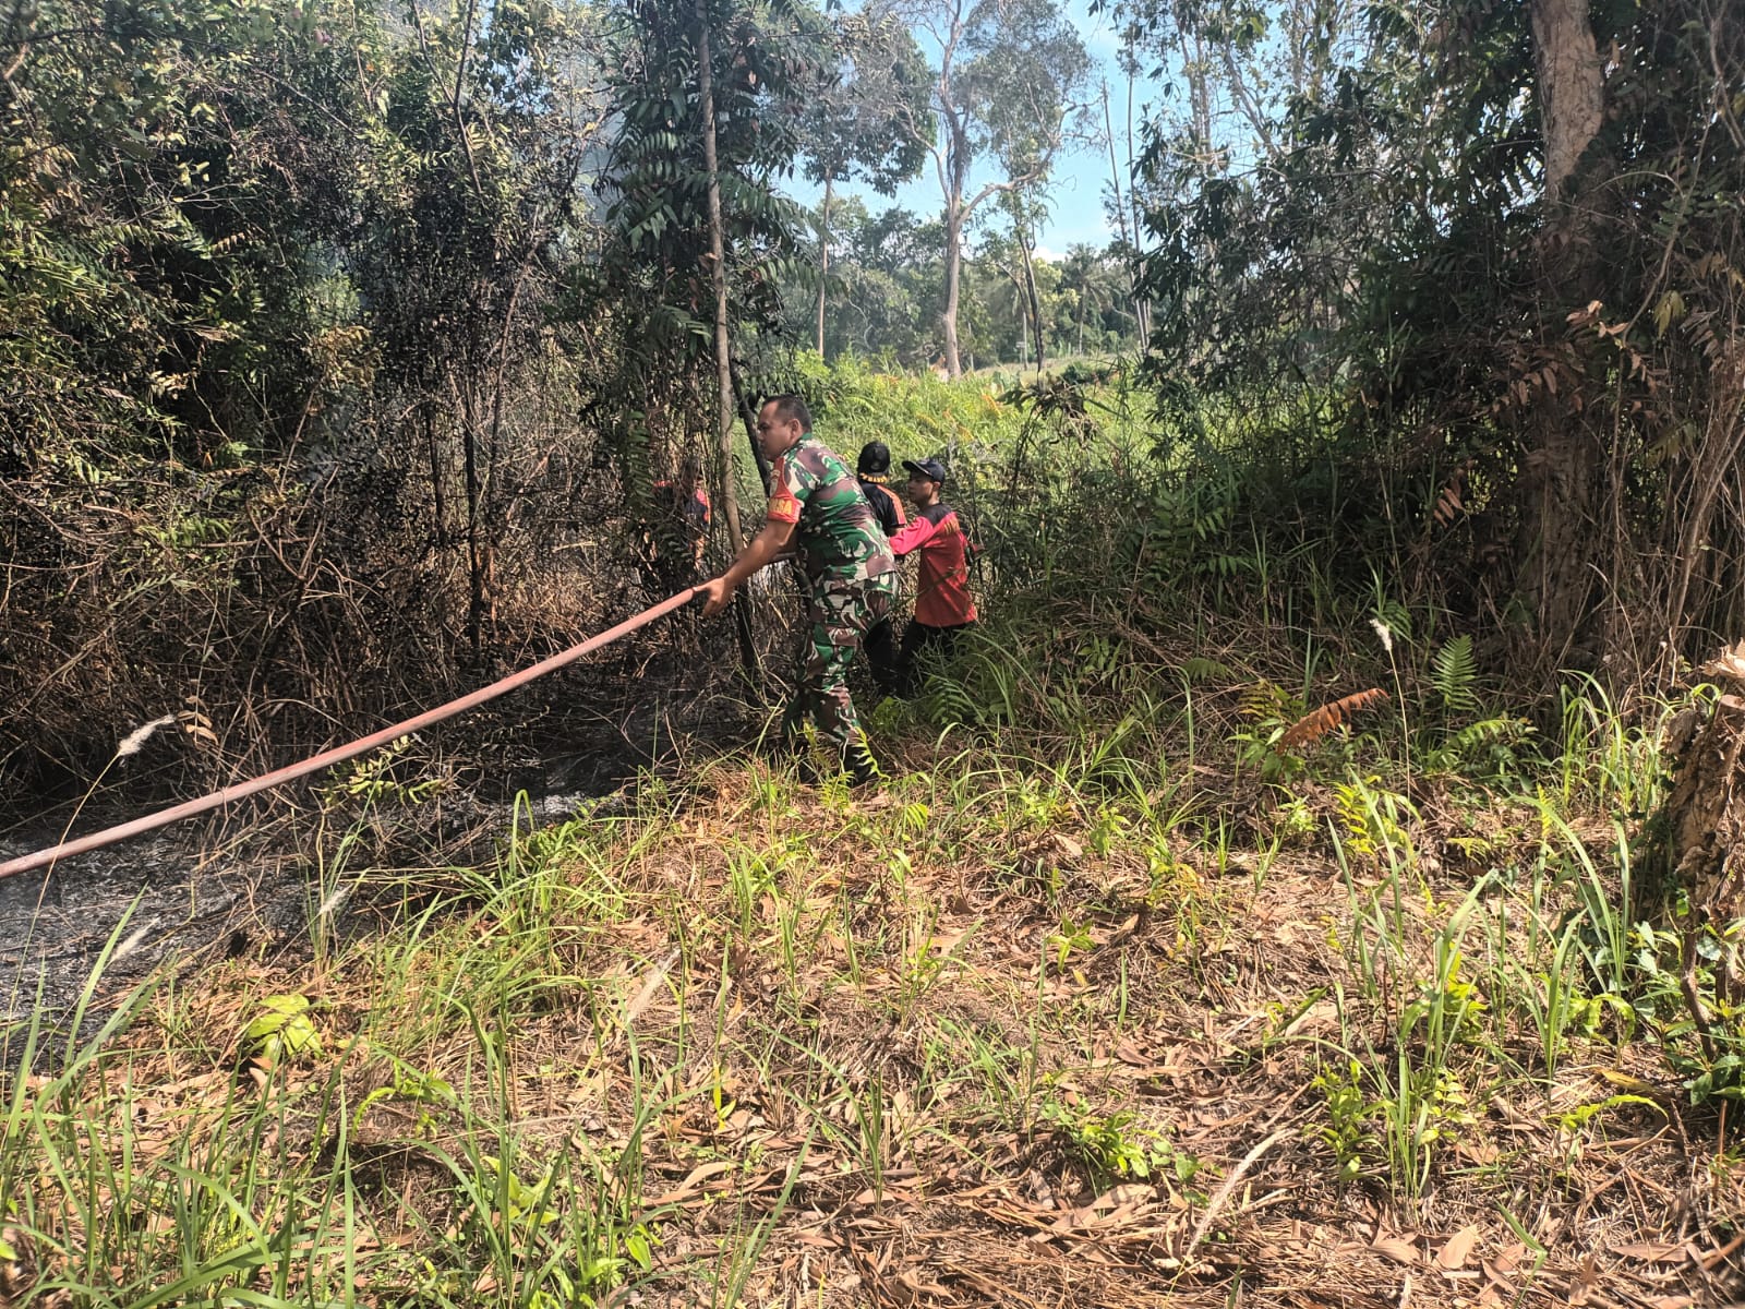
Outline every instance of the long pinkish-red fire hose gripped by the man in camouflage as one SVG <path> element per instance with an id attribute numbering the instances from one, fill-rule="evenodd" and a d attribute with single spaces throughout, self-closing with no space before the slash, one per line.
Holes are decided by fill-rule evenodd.
<path id="1" fill-rule="evenodd" d="M 236 785 L 223 787 L 222 791 L 213 791 L 209 796 L 201 796 L 199 799 L 188 799 L 181 805 L 173 805 L 168 810 L 159 810 L 157 813 L 147 813 L 141 819 L 133 819 L 131 822 L 122 822 L 113 827 L 105 827 L 99 833 L 91 833 L 89 836 L 80 836 L 75 841 L 63 841 L 61 845 L 51 846 L 47 850 L 37 850 L 35 853 L 19 855 L 17 859 L 9 859 L 0 864 L 0 881 L 5 878 L 17 876 L 19 873 L 30 873 L 38 867 L 49 867 L 61 859 L 72 859 L 73 855 L 82 855 L 89 850 L 101 850 L 105 845 L 115 845 L 117 841 L 126 841 L 133 836 L 143 836 L 145 833 L 157 831 L 159 827 L 168 827 L 173 822 L 181 822 L 183 819 L 192 819 L 197 813 L 209 813 L 215 808 L 230 805 L 237 799 L 248 799 L 250 796 L 260 794 L 262 791 L 270 791 L 272 787 L 284 785 L 286 782 L 295 782 L 300 777 L 309 777 L 311 773 L 319 773 L 323 768 L 332 768 L 337 763 L 346 763 L 347 759 L 356 759 L 359 754 L 368 754 L 370 750 L 389 745 L 401 737 L 410 737 L 414 731 L 422 731 L 424 728 L 443 723 L 455 714 L 464 714 L 468 709 L 476 709 L 487 700 L 496 700 L 506 691 L 513 691 L 517 686 L 525 686 L 536 677 L 544 677 L 548 672 L 557 672 L 558 668 L 574 663 L 583 654 L 592 654 L 602 646 L 611 646 L 619 637 L 626 637 L 640 627 L 647 627 L 656 618 L 665 618 L 675 609 L 682 609 L 696 595 L 695 586 L 688 586 L 672 599 L 661 600 L 660 604 L 644 609 L 635 618 L 626 618 L 618 627 L 600 632 L 597 637 L 588 637 L 579 646 L 571 646 L 565 651 L 551 654 L 550 658 L 539 660 L 520 672 L 510 674 L 508 677 L 492 682 L 490 686 L 482 686 L 469 695 L 462 695 L 459 700 L 450 700 L 445 705 L 426 710 L 417 717 L 408 717 L 405 723 L 396 723 L 391 728 L 382 728 L 380 731 L 372 731 L 368 737 L 359 737 L 347 745 L 335 745 L 330 750 L 314 754 L 300 763 L 286 764 L 284 768 L 276 768 L 270 773 L 263 773 L 250 782 L 237 782 Z"/>

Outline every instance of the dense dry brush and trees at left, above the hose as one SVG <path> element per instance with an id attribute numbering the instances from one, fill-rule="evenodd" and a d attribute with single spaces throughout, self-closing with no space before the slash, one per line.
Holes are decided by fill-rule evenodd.
<path id="1" fill-rule="evenodd" d="M 600 98 L 581 14 L 403 17 L 14 7 L 7 768 L 185 702 L 248 752 L 482 653 L 511 513 L 572 476 L 546 311 Z"/>

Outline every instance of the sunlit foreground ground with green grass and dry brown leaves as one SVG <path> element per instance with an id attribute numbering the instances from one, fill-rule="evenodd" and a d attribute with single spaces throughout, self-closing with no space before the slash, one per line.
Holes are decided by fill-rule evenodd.
<path id="1" fill-rule="evenodd" d="M 428 794 L 340 787 L 307 951 L 99 970 L 101 1026 L 12 1033 L 23 1295 L 1225 1304 L 1269 1258 L 1398 1295 L 1379 1239 L 1471 1223 L 1557 1299 L 1673 1234 L 1595 1222 L 1625 1148 L 1651 1194 L 1701 1176 L 1680 1241 L 1729 1239 L 1736 1157 L 1687 1101 L 1735 1028 L 1694 1030 L 1639 894 L 1675 705 L 1576 688 L 1558 742 L 1466 738 L 1508 705 L 1382 592 L 1277 648 L 1024 599 L 874 716 L 876 798 L 726 756 L 394 871 L 370 806 Z M 1277 749 L 1373 684 L 1386 712 Z"/>

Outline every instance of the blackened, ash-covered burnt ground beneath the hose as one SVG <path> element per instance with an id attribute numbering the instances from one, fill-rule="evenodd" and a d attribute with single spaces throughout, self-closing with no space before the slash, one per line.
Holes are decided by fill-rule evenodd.
<path id="1" fill-rule="evenodd" d="M 780 653 L 766 649 L 764 660 Z M 674 773 L 700 747 L 756 731 L 759 717 L 731 656 L 681 625 L 672 641 L 625 642 L 421 735 L 373 773 L 387 784 L 373 794 L 349 792 L 358 773 L 344 764 L 239 812 L 0 881 L 0 1065 L 17 1058 L 31 1016 L 61 1025 L 99 963 L 92 1018 L 164 963 L 187 969 L 263 948 L 295 958 L 309 948 L 335 860 L 359 871 L 489 860 L 520 796 L 539 824 L 611 805 L 639 773 Z M 166 796 L 162 778 L 178 775 L 183 747 L 174 731 L 148 740 L 87 803 L 14 798 L 0 859 L 199 794 Z M 405 789 L 431 780 L 433 799 L 403 803 Z M 379 925 L 372 915 L 335 920 L 340 937 Z"/>

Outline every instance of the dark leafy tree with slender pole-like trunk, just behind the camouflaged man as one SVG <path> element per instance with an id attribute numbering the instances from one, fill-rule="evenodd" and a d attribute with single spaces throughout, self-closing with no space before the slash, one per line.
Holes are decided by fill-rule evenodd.
<path id="1" fill-rule="evenodd" d="M 632 494 L 670 466 L 672 447 L 714 433 L 700 454 L 719 469 L 733 536 L 724 501 L 736 459 L 722 435 L 738 412 L 733 335 L 743 344 L 780 321 L 799 215 L 775 180 L 797 157 L 799 119 L 829 61 L 825 28 L 806 7 L 644 0 L 612 35 L 609 239 L 592 290 L 618 307 L 604 325 L 616 337 L 602 340 L 612 375 L 597 417 Z"/>

